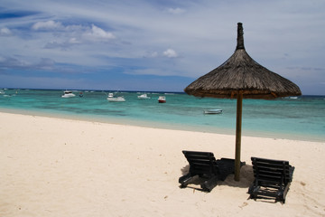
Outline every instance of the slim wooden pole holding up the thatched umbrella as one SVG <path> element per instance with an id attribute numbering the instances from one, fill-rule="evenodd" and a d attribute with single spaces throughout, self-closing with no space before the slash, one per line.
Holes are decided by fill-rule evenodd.
<path id="1" fill-rule="evenodd" d="M 235 181 L 239 181 L 240 175 L 240 144 L 242 123 L 243 93 L 237 94 L 237 120 L 236 120 L 236 154 L 235 154 Z"/>

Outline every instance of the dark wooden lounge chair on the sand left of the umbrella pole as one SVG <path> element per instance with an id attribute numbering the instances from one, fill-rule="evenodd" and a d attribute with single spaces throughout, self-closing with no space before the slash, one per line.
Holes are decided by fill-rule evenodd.
<path id="1" fill-rule="evenodd" d="M 182 151 L 182 153 L 190 164 L 190 171 L 179 178 L 181 188 L 186 187 L 195 176 L 199 175 L 202 180 L 205 180 L 200 184 L 202 190 L 210 192 L 217 185 L 218 180 L 224 181 L 235 171 L 234 159 L 216 160 L 211 152 Z"/>

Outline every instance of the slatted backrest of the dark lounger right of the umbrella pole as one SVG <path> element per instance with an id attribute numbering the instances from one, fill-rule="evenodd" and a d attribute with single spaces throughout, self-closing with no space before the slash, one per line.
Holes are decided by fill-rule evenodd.
<path id="1" fill-rule="evenodd" d="M 292 166 L 289 161 L 252 157 L 256 181 L 288 184 L 292 182 Z"/>

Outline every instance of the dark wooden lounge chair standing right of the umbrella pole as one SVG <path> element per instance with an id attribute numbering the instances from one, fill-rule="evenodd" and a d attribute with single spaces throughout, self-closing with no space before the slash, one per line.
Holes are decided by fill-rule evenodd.
<path id="1" fill-rule="evenodd" d="M 285 203 L 294 166 L 288 161 L 252 157 L 255 181 L 248 189 L 251 199 L 275 199 Z"/>

